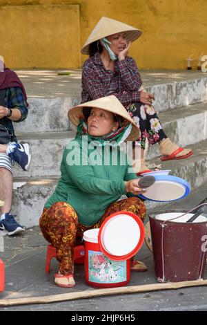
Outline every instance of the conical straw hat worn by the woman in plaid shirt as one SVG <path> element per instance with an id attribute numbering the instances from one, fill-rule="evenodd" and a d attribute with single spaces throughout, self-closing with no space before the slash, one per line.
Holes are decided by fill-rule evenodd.
<path id="1" fill-rule="evenodd" d="M 89 45 L 98 39 L 107 37 L 117 32 L 125 32 L 126 40 L 135 41 L 139 36 L 141 36 L 141 30 L 132 27 L 130 25 L 121 23 L 115 19 L 110 19 L 108 17 L 102 17 L 95 28 L 90 33 L 86 43 L 81 49 L 82 54 L 89 54 Z"/>

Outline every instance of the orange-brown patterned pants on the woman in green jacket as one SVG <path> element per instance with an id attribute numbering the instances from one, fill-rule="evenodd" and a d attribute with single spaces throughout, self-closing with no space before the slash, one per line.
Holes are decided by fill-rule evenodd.
<path id="1" fill-rule="evenodd" d="M 71 205 L 66 202 L 57 202 L 49 209 L 44 209 L 39 219 L 39 226 L 46 241 L 51 243 L 57 251 L 59 272 L 70 275 L 74 272 L 74 246 L 82 243 L 83 232 L 92 228 L 100 228 L 101 223 L 118 211 L 127 211 L 137 214 L 144 221 L 146 206 L 139 198 L 126 198 L 112 203 L 104 212 L 101 220 L 87 227 L 78 222 L 78 216 Z"/>

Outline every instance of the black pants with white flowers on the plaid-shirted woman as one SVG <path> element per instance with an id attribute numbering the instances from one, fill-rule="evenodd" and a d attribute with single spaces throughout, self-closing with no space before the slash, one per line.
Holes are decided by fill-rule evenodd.
<path id="1" fill-rule="evenodd" d="M 141 141 L 141 148 L 145 149 L 146 139 L 151 145 L 168 138 L 164 133 L 159 117 L 154 107 L 141 102 L 134 102 L 128 106 L 128 113 L 135 121 L 141 131 L 141 136 L 137 141 Z"/>

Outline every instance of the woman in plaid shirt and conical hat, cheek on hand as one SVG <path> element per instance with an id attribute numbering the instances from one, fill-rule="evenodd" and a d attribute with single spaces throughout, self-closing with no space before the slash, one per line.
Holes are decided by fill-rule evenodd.
<path id="1" fill-rule="evenodd" d="M 193 154 L 190 149 L 178 147 L 166 136 L 152 106 L 154 95 L 141 88 L 135 60 L 128 56 L 131 42 L 140 35 L 141 30 L 137 28 L 102 17 L 81 49 L 82 54 L 90 56 L 83 64 L 81 102 L 106 95 L 117 96 L 141 131 L 137 139 L 141 141 L 139 173 L 149 171 L 144 163 L 146 138 L 152 145 L 159 143 L 163 161 L 187 158 Z"/>

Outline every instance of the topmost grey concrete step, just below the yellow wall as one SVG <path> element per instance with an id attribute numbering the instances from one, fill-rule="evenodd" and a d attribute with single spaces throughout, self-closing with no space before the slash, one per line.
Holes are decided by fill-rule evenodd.
<path id="1" fill-rule="evenodd" d="M 57 76 L 57 72 L 19 72 L 28 93 L 28 118 L 14 123 L 18 132 L 68 131 L 68 109 L 81 100 L 81 71 L 71 76 Z M 49 76 L 48 76 L 49 74 Z M 144 86 L 155 93 L 155 109 L 167 111 L 207 100 L 207 77 L 204 73 L 179 71 L 141 72 Z M 44 82 L 46 80 L 46 82 Z"/>

